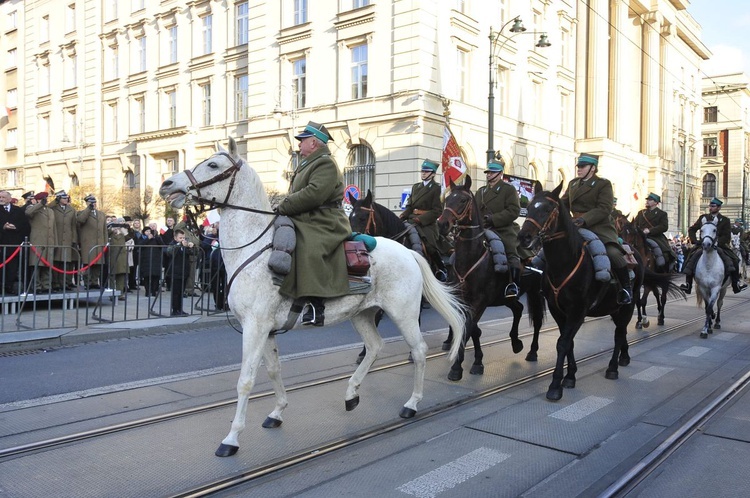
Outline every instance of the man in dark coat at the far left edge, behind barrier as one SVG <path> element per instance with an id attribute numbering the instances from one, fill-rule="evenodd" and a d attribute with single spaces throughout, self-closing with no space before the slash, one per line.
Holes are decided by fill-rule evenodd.
<path id="1" fill-rule="evenodd" d="M 7 190 L 0 190 L 0 263 L 5 263 L 2 267 L 3 289 L 5 294 L 18 294 L 20 292 L 20 282 L 23 282 L 23 276 L 19 275 L 19 269 L 24 268 L 23 251 L 19 252 L 10 261 L 8 258 L 15 252 L 23 241 L 31 233 L 29 219 L 24 213 L 22 207 L 11 204 L 12 196 Z M 23 264 L 22 264 L 23 263 Z"/>

